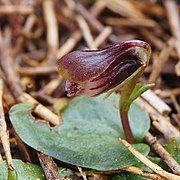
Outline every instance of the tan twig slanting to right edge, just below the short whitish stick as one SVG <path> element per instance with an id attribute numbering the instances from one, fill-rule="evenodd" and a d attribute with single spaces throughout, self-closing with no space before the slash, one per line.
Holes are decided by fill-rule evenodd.
<path id="1" fill-rule="evenodd" d="M 166 139 L 180 137 L 180 132 L 170 123 L 169 117 L 162 116 L 142 98 L 136 99 L 135 102 L 149 113 L 153 120 L 152 124 L 165 136 Z"/>

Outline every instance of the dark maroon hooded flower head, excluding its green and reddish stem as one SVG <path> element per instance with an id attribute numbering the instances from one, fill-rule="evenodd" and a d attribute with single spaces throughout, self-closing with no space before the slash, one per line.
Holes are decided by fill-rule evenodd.
<path id="1" fill-rule="evenodd" d="M 150 46 L 143 41 L 125 41 L 102 50 L 77 50 L 58 60 L 66 79 L 68 96 L 94 97 L 123 84 L 148 64 Z"/>

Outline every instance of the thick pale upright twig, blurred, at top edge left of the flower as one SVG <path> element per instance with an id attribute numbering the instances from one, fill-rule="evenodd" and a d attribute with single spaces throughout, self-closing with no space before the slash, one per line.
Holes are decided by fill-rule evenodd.
<path id="1" fill-rule="evenodd" d="M 56 64 L 56 54 L 59 46 L 58 23 L 53 0 L 43 1 L 43 13 L 47 26 L 48 60 L 51 65 Z"/>

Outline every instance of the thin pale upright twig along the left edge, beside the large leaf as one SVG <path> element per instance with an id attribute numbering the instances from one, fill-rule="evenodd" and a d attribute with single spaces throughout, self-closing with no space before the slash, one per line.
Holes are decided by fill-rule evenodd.
<path id="1" fill-rule="evenodd" d="M 2 145 L 5 151 L 8 167 L 9 169 L 13 170 L 14 164 L 13 164 L 12 156 L 11 156 L 9 134 L 7 132 L 7 125 L 6 125 L 6 120 L 5 120 L 4 110 L 3 110 L 3 81 L 2 79 L 0 79 L 0 138 L 1 138 Z"/>

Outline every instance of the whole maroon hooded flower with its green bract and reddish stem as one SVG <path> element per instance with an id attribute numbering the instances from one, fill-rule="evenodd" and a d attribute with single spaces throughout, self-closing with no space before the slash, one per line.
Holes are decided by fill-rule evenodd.
<path id="1" fill-rule="evenodd" d="M 149 86 L 137 83 L 151 54 L 149 44 L 132 40 L 102 50 L 78 50 L 58 60 L 68 96 L 95 97 L 121 87 L 120 116 L 126 139 L 134 143 L 128 121 L 130 104 Z"/>

